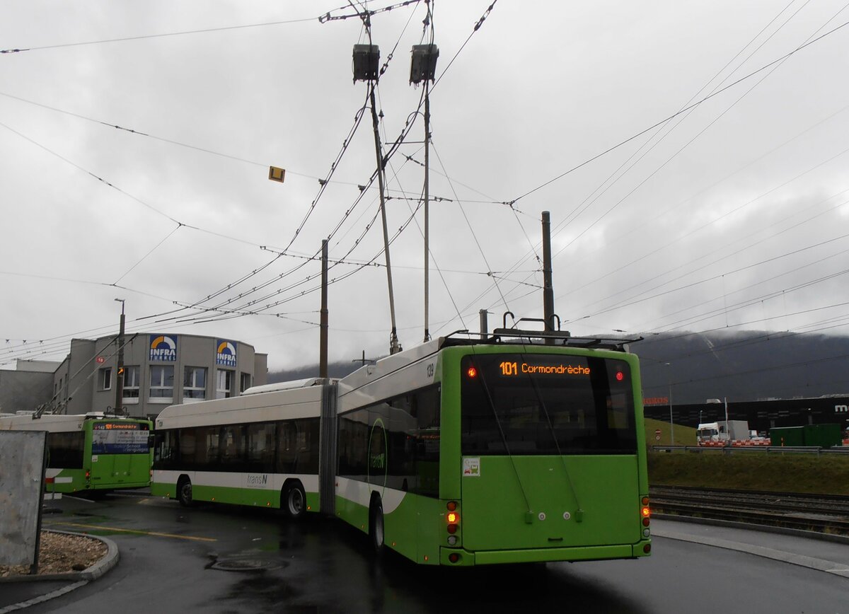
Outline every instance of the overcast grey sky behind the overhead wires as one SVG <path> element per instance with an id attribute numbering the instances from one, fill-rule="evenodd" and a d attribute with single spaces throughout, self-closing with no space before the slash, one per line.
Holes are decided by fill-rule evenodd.
<path id="1" fill-rule="evenodd" d="M 328 237 L 330 360 L 388 352 L 379 191 L 358 188 L 376 166 L 351 74 L 368 36 L 356 18 L 318 20 L 353 14 L 341 4 L 3 3 L 0 48 L 22 49 L 0 54 L 3 368 L 114 334 L 115 298 L 131 332 L 316 363 L 320 262 L 306 258 Z M 434 6 L 431 335 L 479 330 L 481 309 L 490 328 L 507 310 L 542 316 L 542 211 L 575 334 L 846 334 L 849 26 L 828 33 L 849 21 L 842 0 L 488 7 Z M 409 68 L 426 10 L 371 18 L 381 64 L 392 54 L 384 153 L 413 122 L 386 166 L 405 348 L 424 336 Z"/>

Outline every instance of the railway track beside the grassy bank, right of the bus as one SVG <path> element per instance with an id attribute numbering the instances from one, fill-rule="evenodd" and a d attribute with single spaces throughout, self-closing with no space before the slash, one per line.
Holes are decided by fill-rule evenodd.
<path id="1" fill-rule="evenodd" d="M 651 487 L 654 513 L 849 535 L 849 497 Z"/>

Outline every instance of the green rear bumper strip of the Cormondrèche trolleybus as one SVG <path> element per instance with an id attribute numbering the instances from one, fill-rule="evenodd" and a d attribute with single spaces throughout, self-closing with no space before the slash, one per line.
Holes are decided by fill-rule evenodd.
<path id="1" fill-rule="evenodd" d="M 638 544 L 610 546 L 576 546 L 573 548 L 535 548 L 520 550 L 478 550 L 440 548 L 440 564 L 445 566 L 503 565 L 507 563 L 543 563 L 572 560 L 635 559 L 648 556 L 644 547 L 651 544 L 644 539 Z M 452 560 L 452 555 L 458 555 Z"/>

